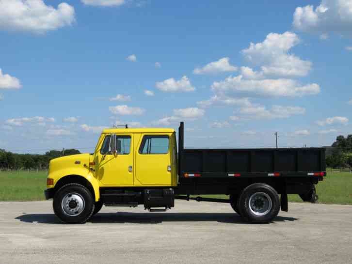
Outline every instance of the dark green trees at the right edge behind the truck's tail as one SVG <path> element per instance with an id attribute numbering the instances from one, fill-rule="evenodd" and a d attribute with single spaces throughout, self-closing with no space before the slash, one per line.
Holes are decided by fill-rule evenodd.
<path id="1" fill-rule="evenodd" d="M 341 168 L 352 167 L 352 135 L 338 136 L 331 147 L 326 148 L 326 166 Z"/>

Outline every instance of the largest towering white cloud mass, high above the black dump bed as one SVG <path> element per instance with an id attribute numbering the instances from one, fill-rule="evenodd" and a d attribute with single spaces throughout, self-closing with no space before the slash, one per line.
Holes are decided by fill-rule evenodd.
<path id="1" fill-rule="evenodd" d="M 289 53 L 299 43 L 299 37 L 289 31 L 269 33 L 262 42 L 250 43 L 241 53 L 256 68 L 241 66 L 240 75 L 213 82 L 214 96 L 197 102 L 198 106 L 249 107 L 251 97 L 299 97 L 320 93 L 317 83 L 301 84 L 295 79 L 306 76 L 312 67 L 311 62 Z"/>

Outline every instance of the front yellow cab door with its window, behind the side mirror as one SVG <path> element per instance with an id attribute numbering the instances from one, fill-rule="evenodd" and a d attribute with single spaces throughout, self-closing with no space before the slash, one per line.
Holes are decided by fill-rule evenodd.
<path id="1" fill-rule="evenodd" d="M 96 152 L 96 177 L 104 186 L 133 185 L 133 134 L 116 134 L 116 153 L 110 151 L 112 134 L 106 134 Z"/>

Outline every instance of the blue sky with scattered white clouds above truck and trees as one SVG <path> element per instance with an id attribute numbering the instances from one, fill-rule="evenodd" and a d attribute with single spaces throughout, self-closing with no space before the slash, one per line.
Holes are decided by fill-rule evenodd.
<path id="1" fill-rule="evenodd" d="M 0 0 L 0 47 L 0 148 L 18 153 L 92 151 L 126 123 L 185 121 L 189 147 L 352 134 L 352 0 Z"/>

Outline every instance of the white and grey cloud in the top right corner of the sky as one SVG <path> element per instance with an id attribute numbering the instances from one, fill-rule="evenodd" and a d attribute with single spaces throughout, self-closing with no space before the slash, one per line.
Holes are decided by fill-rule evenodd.
<path id="1" fill-rule="evenodd" d="M 352 1 L 322 0 L 320 5 L 297 7 L 293 26 L 299 31 L 338 34 L 352 33 Z"/>

